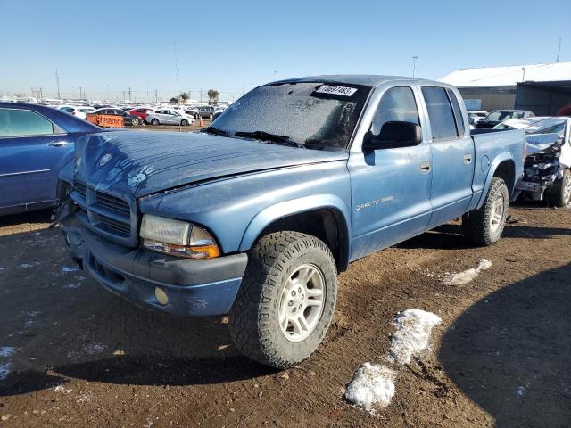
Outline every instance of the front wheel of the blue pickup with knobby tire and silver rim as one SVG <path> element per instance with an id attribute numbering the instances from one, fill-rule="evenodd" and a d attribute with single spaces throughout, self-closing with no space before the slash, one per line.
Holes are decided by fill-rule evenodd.
<path id="1" fill-rule="evenodd" d="M 287 368 L 310 357 L 331 324 L 337 298 L 335 259 L 315 236 L 277 232 L 249 254 L 230 335 L 245 356 Z"/>

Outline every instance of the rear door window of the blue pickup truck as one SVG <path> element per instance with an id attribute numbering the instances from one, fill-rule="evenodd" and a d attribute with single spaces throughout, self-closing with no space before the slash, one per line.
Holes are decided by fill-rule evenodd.
<path id="1" fill-rule="evenodd" d="M 445 89 L 437 86 L 423 86 L 422 95 L 425 97 L 433 140 L 458 137 L 456 121 Z"/>

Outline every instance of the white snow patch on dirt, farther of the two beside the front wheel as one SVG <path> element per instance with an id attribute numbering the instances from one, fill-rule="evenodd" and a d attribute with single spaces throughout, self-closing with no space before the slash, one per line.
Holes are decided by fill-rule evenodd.
<path id="1" fill-rule="evenodd" d="M 442 322 L 432 312 L 420 309 L 407 309 L 397 314 L 393 322 L 396 332 L 391 335 L 389 360 L 401 365 L 409 364 L 412 357 L 426 350 L 432 329 Z"/>

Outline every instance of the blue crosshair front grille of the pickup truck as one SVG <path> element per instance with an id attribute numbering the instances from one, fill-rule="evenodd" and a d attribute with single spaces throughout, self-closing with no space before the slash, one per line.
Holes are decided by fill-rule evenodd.
<path id="1" fill-rule="evenodd" d="M 101 192 L 95 187 L 74 183 L 71 198 L 79 206 L 79 220 L 89 229 L 112 241 L 137 245 L 137 212 L 135 201 Z"/>

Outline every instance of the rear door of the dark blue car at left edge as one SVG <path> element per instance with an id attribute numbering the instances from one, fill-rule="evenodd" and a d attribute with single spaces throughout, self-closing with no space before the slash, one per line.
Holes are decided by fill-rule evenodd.
<path id="1" fill-rule="evenodd" d="M 0 109 L 0 208 L 56 198 L 73 138 L 36 111 Z"/>

